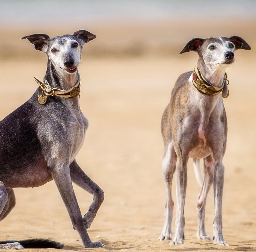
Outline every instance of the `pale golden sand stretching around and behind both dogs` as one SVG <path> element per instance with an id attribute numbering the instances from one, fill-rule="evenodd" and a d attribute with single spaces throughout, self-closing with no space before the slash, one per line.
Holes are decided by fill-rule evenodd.
<path id="1" fill-rule="evenodd" d="M 255 21 L 249 23 L 252 29 L 253 24 Z M 126 26 L 127 31 L 133 32 L 133 40 L 128 39 L 131 36 L 124 33 L 123 27 L 112 26 L 109 30 L 95 27 L 94 31 L 88 28 L 98 35 L 98 41 L 86 45 L 79 68 L 81 109 L 90 127 L 77 161 L 105 192 L 105 200 L 88 230 L 92 241 L 100 240 L 105 249 L 83 248 L 53 181 L 38 188 L 14 189 L 16 207 L 0 223 L 0 240 L 50 238 L 65 243 L 66 251 L 256 251 L 255 34 L 244 30 L 244 24 L 227 24 L 228 32 L 224 27 L 209 30 L 201 25 L 194 33 L 186 24 L 180 24 L 180 28 L 169 23 L 158 25 L 158 36 L 156 29 L 152 35 L 146 25 L 136 26 L 136 31 L 135 26 Z M 54 36 L 75 29 L 48 32 Z M 0 43 L 0 118 L 3 118 L 32 95 L 37 88 L 33 77 L 43 77 L 46 69 L 43 54 L 19 38 L 47 31 L 9 32 L 4 28 L 1 31 L 5 34 Z M 146 39 L 141 39 L 141 46 L 136 47 L 134 41 L 141 34 Z M 161 175 L 161 115 L 175 80 L 180 73 L 192 70 L 197 60 L 194 52 L 178 55 L 183 45 L 192 37 L 218 35 L 240 35 L 252 46 L 251 51 L 236 51 L 236 63 L 227 69 L 230 96 L 224 100 L 228 144 L 224 157 L 223 235 L 230 246 L 221 247 L 196 239 L 196 197 L 200 187 L 191 161 L 185 204 L 185 242 L 169 246 L 169 241 L 158 241 L 164 221 L 165 197 Z M 11 46 L 7 43 L 8 36 L 16 40 Z M 99 52 L 100 48 L 104 50 Z M 21 54 L 17 56 L 19 50 Z M 27 50 L 29 57 L 24 54 Z M 176 206 L 174 185 L 175 181 Z M 76 185 L 74 188 L 85 214 L 92 195 Z M 212 235 L 213 200 L 208 197 L 207 201 L 206 232 Z"/>

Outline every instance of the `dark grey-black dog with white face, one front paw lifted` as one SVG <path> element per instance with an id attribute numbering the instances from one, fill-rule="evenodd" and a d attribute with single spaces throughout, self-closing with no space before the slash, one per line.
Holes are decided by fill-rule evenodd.
<path id="1" fill-rule="evenodd" d="M 36 187 L 53 179 L 85 248 L 103 247 L 100 241 L 90 240 L 86 229 L 92 224 L 104 193 L 75 159 L 88 127 L 79 107 L 77 71 L 84 44 L 95 37 L 85 30 L 53 38 L 46 34 L 22 37 L 36 50 L 46 53 L 45 78 L 35 77 L 39 84 L 36 92 L 0 122 L 0 220 L 15 205 L 12 187 Z M 84 217 L 72 182 L 93 194 L 93 202 Z M 12 248 L 10 243 L 0 248 L 8 246 Z M 13 247 L 21 248 L 17 244 Z"/>

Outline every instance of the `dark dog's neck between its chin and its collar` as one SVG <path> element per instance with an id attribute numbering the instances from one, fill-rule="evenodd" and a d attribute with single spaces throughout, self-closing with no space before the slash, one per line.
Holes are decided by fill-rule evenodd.
<path id="1" fill-rule="evenodd" d="M 78 72 L 68 74 L 65 70 L 54 67 L 51 60 L 48 59 L 45 80 L 53 88 L 66 90 L 76 85 L 78 81 Z"/>

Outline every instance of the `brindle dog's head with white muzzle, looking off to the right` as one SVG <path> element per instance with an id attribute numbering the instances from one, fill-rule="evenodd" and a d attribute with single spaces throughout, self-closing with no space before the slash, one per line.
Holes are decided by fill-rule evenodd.
<path id="1" fill-rule="evenodd" d="M 246 41 L 238 36 L 210 37 L 206 39 L 193 38 L 180 51 L 180 54 L 188 51 L 196 51 L 209 68 L 226 68 L 235 61 L 234 52 L 238 49 L 250 50 Z"/>

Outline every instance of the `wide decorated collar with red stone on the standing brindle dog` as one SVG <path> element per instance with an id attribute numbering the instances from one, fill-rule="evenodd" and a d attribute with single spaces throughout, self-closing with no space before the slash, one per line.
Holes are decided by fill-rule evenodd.
<path id="1" fill-rule="evenodd" d="M 204 79 L 196 64 L 196 67 L 194 68 L 194 72 L 192 74 L 192 83 L 195 86 L 196 90 L 201 94 L 212 96 L 221 92 L 221 96 L 223 98 L 227 98 L 229 95 L 229 81 L 227 78 L 228 75 L 227 73 L 225 73 L 221 87 L 215 87 Z"/>

